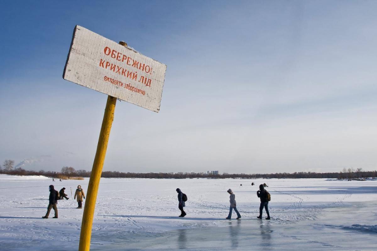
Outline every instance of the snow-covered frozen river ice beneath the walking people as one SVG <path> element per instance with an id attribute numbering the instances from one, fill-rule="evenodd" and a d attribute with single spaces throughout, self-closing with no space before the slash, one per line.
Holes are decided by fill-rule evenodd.
<path id="1" fill-rule="evenodd" d="M 88 181 L 0 175 L 0 250 L 77 250 L 83 210 L 73 198 L 58 202 L 58 219 L 53 210 L 41 216 L 49 185 L 71 197 L 70 188 L 86 192 Z M 256 219 L 262 183 L 271 193 L 271 221 Z M 178 218 L 176 188 L 189 198 L 185 218 Z M 225 219 L 229 188 L 240 220 L 234 212 Z M 376 250 L 376 206 L 372 180 L 102 178 L 91 250 Z"/>

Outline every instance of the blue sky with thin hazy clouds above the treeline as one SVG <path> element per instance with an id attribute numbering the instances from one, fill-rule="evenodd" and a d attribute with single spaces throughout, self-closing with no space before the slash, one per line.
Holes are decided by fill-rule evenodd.
<path id="1" fill-rule="evenodd" d="M 118 102 L 104 170 L 375 170 L 374 1 L 3 1 L 0 163 L 90 170 L 106 95 L 63 80 L 76 24 L 167 65 Z"/>

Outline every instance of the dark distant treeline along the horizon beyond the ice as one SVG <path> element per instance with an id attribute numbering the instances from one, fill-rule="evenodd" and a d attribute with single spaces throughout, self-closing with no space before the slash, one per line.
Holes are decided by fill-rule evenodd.
<path id="1" fill-rule="evenodd" d="M 4 165 L 5 166 L 5 165 Z M 18 168 L 4 168 L 0 167 L 0 173 L 10 174 L 10 175 L 43 175 L 52 178 L 70 178 L 70 177 L 90 177 L 90 172 L 86 170 L 75 170 L 73 167 L 63 167 L 60 172 L 52 171 L 32 171 L 25 170 L 21 167 Z M 361 168 L 354 170 L 353 168 L 343 169 L 342 172 L 334 173 L 317 173 L 317 172 L 294 172 L 294 173 L 223 173 L 219 175 L 207 174 L 207 173 L 194 173 L 194 172 L 178 172 L 178 173 L 130 173 L 130 172 L 118 172 L 118 171 L 104 171 L 102 173 L 103 178 L 149 178 L 149 179 L 185 179 L 185 178 L 332 178 L 332 179 L 354 179 L 354 178 L 366 178 L 366 177 L 377 177 L 377 170 L 375 171 L 364 171 Z"/>

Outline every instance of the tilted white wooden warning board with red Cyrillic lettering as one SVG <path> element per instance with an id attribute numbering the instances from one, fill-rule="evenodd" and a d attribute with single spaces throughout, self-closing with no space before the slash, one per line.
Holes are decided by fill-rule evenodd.
<path id="1" fill-rule="evenodd" d="M 158 112 L 165 73 L 165 64 L 77 25 L 63 78 Z"/>

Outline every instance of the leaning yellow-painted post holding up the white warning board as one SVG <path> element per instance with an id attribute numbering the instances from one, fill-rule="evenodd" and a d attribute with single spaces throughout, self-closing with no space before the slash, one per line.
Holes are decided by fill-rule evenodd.
<path id="1" fill-rule="evenodd" d="M 119 44 L 127 46 L 123 41 L 119 42 Z M 103 163 L 105 161 L 107 143 L 109 142 L 111 125 L 114 120 L 115 104 L 116 97 L 108 96 L 102 120 L 100 138 L 98 139 L 97 152 L 95 153 L 92 173 L 90 174 L 86 194 L 84 214 L 81 222 L 80 244 L 78 246 L 79 251 L 90 250 L 90 237 L 92 235 L 95 202 L 97 201 L 98 187 L 100 186 L 100 178 Z"/>

